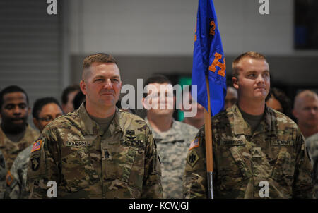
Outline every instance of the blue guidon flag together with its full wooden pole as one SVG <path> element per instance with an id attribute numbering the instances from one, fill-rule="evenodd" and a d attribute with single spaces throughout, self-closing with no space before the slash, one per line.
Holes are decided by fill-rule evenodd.
<path id="1" fill-rule="evenodd" d="M 226 96 L 225 58 L 213 1 L 199 0 L 195 32 L 192 85 L 198 85 L 198 94 L 193 96 L 198 97 L 197 102 L 205 108 L 208 197 L 213 199 L 211 116 L 223 109 Z M 198 138 L 190 147 L 196 147 L 197 142 Z M 195 158 L 196 156 L 191 155 L 187 159 L 189 162 L 196 162 Z"/>

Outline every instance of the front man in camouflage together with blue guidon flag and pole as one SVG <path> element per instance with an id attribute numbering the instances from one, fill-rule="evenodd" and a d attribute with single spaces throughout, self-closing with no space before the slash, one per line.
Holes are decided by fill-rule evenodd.
<path id="1" fill-rule="evenodd" d="M 198 102 L 213 118 L 189 147 L 184 198 L 312 198 L 312 166 L 302 133 L 265 104 L 270 88 L 265 56 L 250 51 L 233 61 L 237 104 L 218 113 L 226 94 L 225 59 L 211 11 L 211 0 L 199 0 L 192 85 L 198 85 Z"/>

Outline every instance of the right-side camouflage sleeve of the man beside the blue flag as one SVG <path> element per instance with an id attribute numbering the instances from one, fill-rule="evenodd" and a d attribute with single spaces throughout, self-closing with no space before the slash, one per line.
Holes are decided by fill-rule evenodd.
<path id="1" fill-rule="evenodd" d="M 293 198 L 310 198 L 313 196 L 312 165 L 305 150 L 305 140 L 298 131 L 296 136 L 296 162 L 293 182 Z"/>

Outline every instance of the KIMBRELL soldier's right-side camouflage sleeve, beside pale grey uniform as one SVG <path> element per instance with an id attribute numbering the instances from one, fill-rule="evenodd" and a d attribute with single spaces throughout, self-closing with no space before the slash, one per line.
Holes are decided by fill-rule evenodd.
<path id="1" fill-rule="evenodd" d="M 145 171 L 143 178 L 143 191 L 141 198 L 163 198 L 163 186 L 161 185 L 160 159 L 153 139 L 153 134 L 149 128 L 145 133 Z"/>

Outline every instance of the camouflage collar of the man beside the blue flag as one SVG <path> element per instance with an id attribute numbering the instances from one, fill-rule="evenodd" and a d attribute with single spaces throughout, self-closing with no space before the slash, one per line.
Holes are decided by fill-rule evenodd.
<path id="1" fill-rule="evenodd" d="M 263 119 L 261 120 L 261 123 L 259 123 L 259 126 L 255 130 L 254 133 L 252 133 L 252 128 L 249 126 L 249 124 L 244 120 L 242 113 L 237 106 L 237 104 L 234 104 L 232 107 L 232 113 L 233 113 L 233 124 L 234 124 L 234 134 L 235 135 L 255 135 L 258 133 L 263 133 L 266 131 L 271 130 L 271 114 L 269 111 L 269 107 L 265 104 L 265 115 Z"/>

